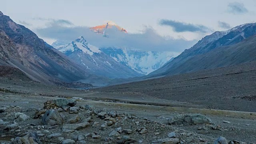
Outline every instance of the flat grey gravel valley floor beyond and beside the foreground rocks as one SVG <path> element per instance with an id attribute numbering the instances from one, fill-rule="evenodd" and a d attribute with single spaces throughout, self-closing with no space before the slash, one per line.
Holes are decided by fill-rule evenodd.
<path id="1" fill-rule="evenodd" d="M 52 98 L 77 98 L 77 106 L 84 104 L 93 105 L 98 109 L 106 108 L 107 110 L 117 111 L 118 113 L 129 113 L 136 116 L 136 118 L 138 119 L 135 120 L 138 120 L 140 122 L 144 122 L 144 118 L 147 118 L 148 120 L 159 123 L 160 125 L 152 125 L 153 129 L 150 130 L 149 134 L 140 135 L 135 133 L 130 135 L 132 138 L 136 139 L 136 141 L 143 140 L 142 144 L 148 144 L 153 140 L 165 138 L 167 134 L 172 131 L 175 131 L 177 134 L 182 134 L 183 132 L 185 132 L 186 134 L 191 133 L 191 136 L 194 135 L 193 138 L 203 138 L 205 142 L 198 142 L 200 144 L 205 144 L 206 142 L 216 140 L 219 136 L 223 136 L 228 140 L 238 140 L 247 143 L 256 142 L 256 138 L 254 137 L 256 135 L 256 113 L 254 112 L 236 112 L 212 109 L 210 110 L 209 108 L 206 108 L 200 103 L 195 104 L 192 102 L 172 101 L 139 92 L 117 93 L 97 92 L 94 89 L 72 90 L 56 86 L 46 86 L 37 82 L 10 80 L 8 78 L 0 78 L 0 81 L 0 106 L 13 105 L 21 106 L 22 108 L 43 108 L 44 102 Z M 234 99 L 234 102 L 235 100 L 237 99 Z M 254 102 L 255 104 L 254 100 L 248 100 L 248 102 Z M 211 104 L 215 104 L 215 102 L 212 101 Z M 237 104 L 237 106 L 240 106 L 240 110 L 242 110 L 242 105 Z M 254 111 L 254 109 L 249 111 Z M 213 130 L 208 125 L 168 125 L 168 118 L 174 116 L 175 114 L 186 113 L 205 114 L 212 119 L 214 124 L 220 125 L 221 129 Z M 33 116 L 33 114 L 30 115 Z M 66 114 L 66 116 L 68 116 L 68 114 Z M 2 119 L 1 116 L 0 119 Z M 94 120 L 97 121 L 97 119 Z M 230 124 L 224 123 L 223 120 L 229 121 Z M 31 121 L 30 123 L 34 122 L 36 122 L 36 124 L 40 123 L 40 121 L 38 120 Z M 102 121 L 99 122 L 100 124 L 102 123 Z M 129 122 L 132 121 L 128 121 L 128 125 L 130 124 Z M 133 129 L 127 124 L 122 125 L 122 127 Z M 164 128 L 159 128 L 161 127 L 161 124 L 164 124 Z M 136 126 L 138 125 L 135 125 L 135 127 Z M 206 127 L 207 130 L 202 132 L 198 130 L 198 127 Z M 111 132 L 109 130 L 111 129 L 108 129 L 107 131 L 90 129 L 89 131 L 96 131 L 100 133 L 102 137 L 107 137 L 108 134 Z M 159 136 L 154 135 L 154 133 L 157 132 L 156 130 L 159 130 Z M 54 132 L 62 133 L 61 131 Z M 83 133 L 87 133 L 87 131 Z M 68 137 L 69 136 L 65 136 L 65 138 Z M 188 136 L 187 138 L 192 137 Z M 0 138 L 0 141 L 1 140 L 3 141 L 3 138 Z M 8 140 L 8 138 L 5 138 L 4 140 Z M 55 138 L 52 140 L 57 139 Z M 195 140 L 190 143 L 196 142 Z M 101 140 L 95 141 L 92 139 L 88 139 L 88 143 L 101 143 Z"/>

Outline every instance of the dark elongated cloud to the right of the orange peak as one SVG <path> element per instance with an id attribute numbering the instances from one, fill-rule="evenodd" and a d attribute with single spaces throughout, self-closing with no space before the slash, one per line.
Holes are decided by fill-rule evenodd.
<path id="1" fill-rule="evenodd" d="M 171 26 L 175 32 L 211 32 L 210 28 L 200 24 L 189 24 L 185 22 L 177 22 L 175 20 L 162 19 L 159 21 L 161 26 Z"/>

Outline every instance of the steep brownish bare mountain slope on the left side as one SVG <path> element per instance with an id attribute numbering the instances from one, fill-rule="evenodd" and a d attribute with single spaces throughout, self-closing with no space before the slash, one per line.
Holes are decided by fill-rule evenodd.
<path id="1" fill-rule="evenodd" d="M 0 12 L 0 65 L 13 66 L 44 83 L 90 78 L 80 66 L 46 44 L 28 28 Z M 50 82 L 51 81 L 51 82 Z"/>

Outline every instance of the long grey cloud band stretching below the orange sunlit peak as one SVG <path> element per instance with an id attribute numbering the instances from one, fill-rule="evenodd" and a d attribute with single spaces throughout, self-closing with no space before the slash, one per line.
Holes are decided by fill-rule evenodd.
<path id="1" fill-rule="evenodd" d="M 186 48 L 190 48 L 196 43 L 195 40 L 188 41 L 185 39 L 174 39 L 171 37 L 162 37 L 158 35 L 153 28 L 145 27 L 141 33 L 127 34 L 112 29 L 107 29 L 109 38 L 105 38 L 102 34 L 92 32 L 85 26 L 58 26 L 51 23 L 46 28 L 37 28 L 36 33 L 44 38 L 62 40 L 72 42 L 78 36 L 84 38 L 92 45 L 99 48 L 102 47 L 126 47 L 136 48 L 147 51 L 170 51 L 182 52 Z"/>

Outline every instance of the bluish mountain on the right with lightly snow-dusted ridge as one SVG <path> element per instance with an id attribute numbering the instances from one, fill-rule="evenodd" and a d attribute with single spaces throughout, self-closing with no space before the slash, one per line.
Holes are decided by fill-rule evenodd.
<path id="1" fill-rule="evenodd" d="M 148 77 L 168 76 L 254 61 L 256 23 L 205 36 Z M 241 42 L 241 43 L 240 43 Z"/>

